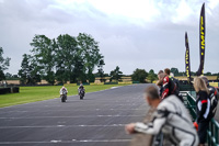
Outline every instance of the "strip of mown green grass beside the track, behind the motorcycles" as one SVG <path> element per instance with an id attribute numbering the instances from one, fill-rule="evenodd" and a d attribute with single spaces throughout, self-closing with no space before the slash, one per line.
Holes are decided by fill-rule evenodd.
<path id="1" fill-rule="evenodd" d="M 85 86 L 87 92 L 101 91 L 118 85 Z M 20 93 L 0 94 L 0 108 L 59 98 L 61 86 L 20 87 Z M 78 93 L 78 87 L 67 86 L 68 96 Z"/>

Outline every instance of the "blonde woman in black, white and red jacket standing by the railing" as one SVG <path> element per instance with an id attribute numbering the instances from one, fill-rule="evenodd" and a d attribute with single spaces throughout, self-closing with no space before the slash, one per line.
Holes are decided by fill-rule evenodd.
<path id="1" fill-rule="evenodd" d="M 207 130 L 210 122 L 210 100 L 209 93 L 205 81 L 201 77 L 194 79 L 194 88 L 197 93 L 196 111 L 197 111 L 197 124 L 198 124 L 198 137 L 199 146 L 205 146 L 207 138 Z"/>

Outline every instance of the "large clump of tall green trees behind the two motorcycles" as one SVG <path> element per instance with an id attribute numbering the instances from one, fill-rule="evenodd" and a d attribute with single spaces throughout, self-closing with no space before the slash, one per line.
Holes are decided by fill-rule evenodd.
<path id="1" fill-rule="evenodd" d="M 89 34 L 69 34 L 49 38 L 35 35 L 31 54 L 24 54 L 19 70 L 23 85 L 34 85 L 45 79 L 50 85 L 58 82 L 93 82 L 93 70 L 103 68 L 104 56 L 100 53 L 99 43 Z M 100 70 L 101 71 L 101 70 Z"/>

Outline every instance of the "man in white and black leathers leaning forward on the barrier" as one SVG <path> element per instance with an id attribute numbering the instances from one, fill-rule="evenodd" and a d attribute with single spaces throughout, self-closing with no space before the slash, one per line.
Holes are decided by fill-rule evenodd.
<path id="1" fill-rule="evenodd" d="M 172 94 L 161 102 L 158 87 L 149 86 L 145 90 L 145 98 L 149 105 L 157 109 L 152 115 L 153 120 L 147 124 L 130 123 L 126 125 L 125 130 L 128 134 L 145 133 L 157 135 L 162 131 L 174 145 L 198 145 L 197 132 L 193 126 L 191 115 L 176 96 Z"/>

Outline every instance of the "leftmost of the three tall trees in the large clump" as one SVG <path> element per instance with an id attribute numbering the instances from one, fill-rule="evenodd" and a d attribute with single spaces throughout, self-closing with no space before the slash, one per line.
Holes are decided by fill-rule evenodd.
<path id="1" fill-rule="evenodd" d="M 55 83 L 55 40 L 50 40 L 45 35 L 35 35 L 31 46 L 33 46 L 32 53 L 35 60 L 42 68 L 44 78 L 49 83 Z"/>

